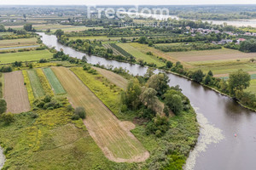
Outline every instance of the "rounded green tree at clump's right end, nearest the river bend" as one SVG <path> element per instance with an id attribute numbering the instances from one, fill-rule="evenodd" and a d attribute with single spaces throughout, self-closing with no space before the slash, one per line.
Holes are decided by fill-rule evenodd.
<path id="1" fill-rule="evenodd" d="M 171 111 L 177 115 L 180 111 L 183 111 L 183 100 L 178 92 L 175 90 L 168 90 L 165 94 L 166 105 Z"/>

